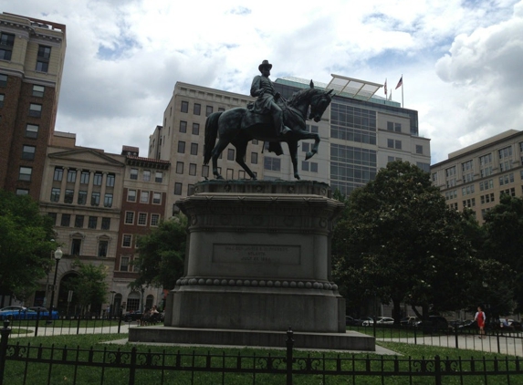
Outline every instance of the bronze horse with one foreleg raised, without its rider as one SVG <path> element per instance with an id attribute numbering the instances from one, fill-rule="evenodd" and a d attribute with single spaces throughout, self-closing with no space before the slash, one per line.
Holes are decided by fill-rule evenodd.
<path id="1" fill-rule="evenodd" d="M 248 168 L 245 162 L 247 143 L 253 139 L 269 141 L 271 142 L 271 147 L 276 148 L 276 153 L 279 155 L 282 153 L 280 142 L 285 141 L 287 142 L 290 159 L 294 167 L 294 177 L 299 179 L 298 140 L 314 140 L 314 145 L 311 151 L 306 153 L 305 160 L 308 160 L 318 152 L 319 146 L 319 135 L 305 130 L 307 112 L 310 107 L 309 120 L 316 122 L 321 120 L 321 115 L 327 109 L 332 99 L 331 92 L 332 89 L 324 91 L 314 88 L 314 83 L 311 80 L 310 88 L 298 91 L 287 102 L 279 98 L 278 105 L 283 110 L 284 124 L 292 130 L 285 136 L 275 136 L 275 129 L 270 115 L 254 114 L 248 109 L 239 107 L 212 113 L 205 122 L 204 164 L 208 164 L 213 159 L 214 176 L 216 179 L 224 179 L 218 172 L 218 157 L 227 145 L 232 143 L 236 148 L 236 163 L 242 166 L 253 180 L 256 180 L 256 175 Z M 214 145 L 218 133 L 220 134 L 219 140 Z"/>

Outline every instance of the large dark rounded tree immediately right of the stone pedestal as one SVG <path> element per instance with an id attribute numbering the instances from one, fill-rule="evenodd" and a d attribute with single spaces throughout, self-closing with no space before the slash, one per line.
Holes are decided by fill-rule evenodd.
<path id="1" fill-rule="evenodd" d="M 350 295 L 392 301 L 396 321 L 402 302 L 418 317 L 467 305 L 467 284 L 477 271 L 465 236 L 471 219 L 446 207 L 427 172 L 390 162 L 350 194 L 347 206 L 334 232 L 333 265 Z"/>

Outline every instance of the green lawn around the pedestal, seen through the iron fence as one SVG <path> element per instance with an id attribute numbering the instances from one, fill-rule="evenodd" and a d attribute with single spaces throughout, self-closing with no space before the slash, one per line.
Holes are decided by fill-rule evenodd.
<path id="1" fill-rule="evenodd" d="M 45 347 L 51 348 L 53 345 L 55 347 L 67 346 L 70 349 L 70 355 L 74 357 L 77 347 L 83 349 L 89 349 L 93 347 L 96 350 L 107 349 L 110 351 L 116 351 L 120 349 L 120 354 L 125 354 L 131 351 L 131 348 L 134 346 L 132 344 L 116 344 L 115 340 L 127 338 L 126 335 L 119 334 L 89 334 L 89 335 L 75 335 L 75 336 L 56 336 L 56 337 L 31 337 L 31 338 L 16 338 L 11 339 L 10 343 L 15 344 L 19 342 L 21 346 L 27 347 L 30 343 L 31 347 L 37 347 L 42 344 Z M 442 359 L 471 359 L 474 358 L 478 362 L 476 369 L 480 369 L 479 364 L 482 360 L 485 359 L 498 359 L 503 360 L 504 357 L 498 356 L 492 353 L 486 353 L 482 351 L 475 350 L 465 350 L 465 349 L 447 349 L 427 345 L 410 345 L 399 342 L 380 342 L 380 345 L 383 348 L 391 349 L 396 352 L 400 359 L 407 357 L 412 357 L 413 359 L 434 359 L 434 356 L 439 355 Z M 225 365 L 234 367 L 236 365 L 238 355 L 242 357 L 250 356 L 250 359 L 242 360 L 242 365 L 248 367 L 256 366 L 259 368 L 260 365 L 264 363 L 262 357 L 267 357 L 270 355 L 274 359 L 281 359 L 285 357 L 285 350 L 282 349 L 223 349 L 223 348 L 184 348 L 184 347 L 158 347 L 158 346 L 138 346 L 138 351 L 145 353 L 141 356 L 142 359 L 149 357 L 150 359 L 154 358 L 155 353 L 160 353 L 166 360 L 173 360 L 176 358 L 177 353 L 192 355 L 194 353 L 194 358 L 192 356 L 184 357 L 181 359 L 181 367 L 192 366 L 194 364 L 199 364 L 205 366 L 207 362 L 210 362 L 211 366 L 218 366 L 225 362 Z M 147 355 L 150 352 L 151 354 Z M 165 353 L 165 355 L 163 355 Z M 37 349 L 34 349 L 32 353 L 37 357 Z M 49 365 L 43 363 L 45 359 L 50 357 L 51 354 L 57 355 L 57 353 L 52 353 L 51 349 L 44 350 L 44 352 L 37 359 L 37 362 L 31 362 L 27 365 L 24 362 L 16 362 L 8 360 L 5 365 L 5 384 L 21 384 L 24 383 L 24 376 L 26 376 L 26 384 L 28 385 L 40 385 L 40 384 L 68 384 L 73 383 L 73 380 L 76 376 L 77 384 L 91 384 L 91 383 L 104 383 L 110 385 L 119 385 L 119 384 L 128 384 L 129 383 L 129 369 L 120 369 L 120 368 L 95 368 L 95 367 L 78 367 L 75 372 L 75 368 L 72 366 L 66 365 L 53 365 L 52 369 L 49 370 Z M 80 353 L 88 356 L 88 352 Z M 93 354 L 93 359 L 97 359 L 97 354 L 101 355 L 102 353 Z M 221 357 L 216 357 L 210 360 L 208 355 L 216 355 Z M 55 357 L 53 356 L 53 357 Z M 254 357 L 256 356 L 256 359 Z M 109 359 L 117 359 L 120 356 L 107 356 Z M 166 358 L 165 358 L 166 357 Z M 314 363 L 314 359 L 325 358 L 325 365 L 327 369 L 336 369 L 337 362 L 341 359 L 341 365 L 343 368 L 351 368 L 354 359 L 364 359 L 371 358 L 375 359 L 371 363 L 372 369 L 379 369 L 381 363 L 381 356 L 377 354 L 355 354 L 350 353 L 338 353 L 338 352 L 318 352 L 318 351 L 294 351 L 295 359 L 298 359 L 299 362 L 309 362 Z M 390 358 L 390 357 L 387 357 Z M 392 369 L 392 363 L 387 363 L 385 366 Z M 285 365 L 283 364 L 283 367 Z M 296 368 L 296 367 L 295 367 Z M 502 365 L 501 365 L 502 368 Z M 366 367 L 364 363 L 356 364 L 355 369 L 365 371 Z M 155 369 L 154 366 L 151 366 L 151 369 L 140 369 L 136 373 L 136 384 L 205 384 L 205 385 L 214 385 L 222 383 L 222 373 L 213 373 L 213 372 L 195 372 L 190 371 L 173 371 L 173 370 L 159 370 Z M 47 382 L 47 379 L 50 379 Z M 103 380 L 101 380 L 103 379 Z M 100 382 L 101 380 L 101 382 Z M 193 380 L 193 382 L 191 382 Z M 490 376 L 488 377 L 488 384 L 507 384 L 507 377 L 504 376 Z M 523 383 L 523 374 L 520 376 L 511 376 L 511 383 Z M 244 385 L 253 383 L 252 374 L 243 374 L 243 373 L 226 373 L 225 374 L 225 384 L 231 385 Z M 272 384 L 285 384 L 285 376 L 282 375 L 272 375 L 272 374 L 256 374 L 256 384 L 263 385 L 272 385 Z M 387 376 L 382 378 L 382 376 L 327 376 L 325 379 L 317 374 L 307 374 L 307 375 L 295 375 L 294 383 L 299 385 L 319 385 L 319 384 L 432 384 L 434 383 L 433 378 L 413 378 L 412 382 L 409 382 L 408 377 L 393 377 Z M 444 384 L 483 384 L 486 383 L 486 379 L 482 376 L 469 376 L 465 377 L 463 382 L 459 378 L 454 377 L 444 377 Z"/>

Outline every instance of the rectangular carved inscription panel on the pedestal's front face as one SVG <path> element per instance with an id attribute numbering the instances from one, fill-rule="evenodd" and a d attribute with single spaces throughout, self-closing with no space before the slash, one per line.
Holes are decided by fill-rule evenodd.
<path id="1" fill-rule="evenodd" d="M 300 246 L 213 245 L 213 262 L 225 264 L 299 265 Z"/>

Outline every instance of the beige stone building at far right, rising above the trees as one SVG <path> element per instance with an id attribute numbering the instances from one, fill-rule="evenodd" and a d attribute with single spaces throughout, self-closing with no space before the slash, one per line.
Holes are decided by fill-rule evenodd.
<path id="1" fill-rule="evenodd" d="M 431 177 L 449 207 L 470 208 L 483 223 L 503 193 L 523 195 L 523 131 L 507 130 L 431 166 Z"/>

